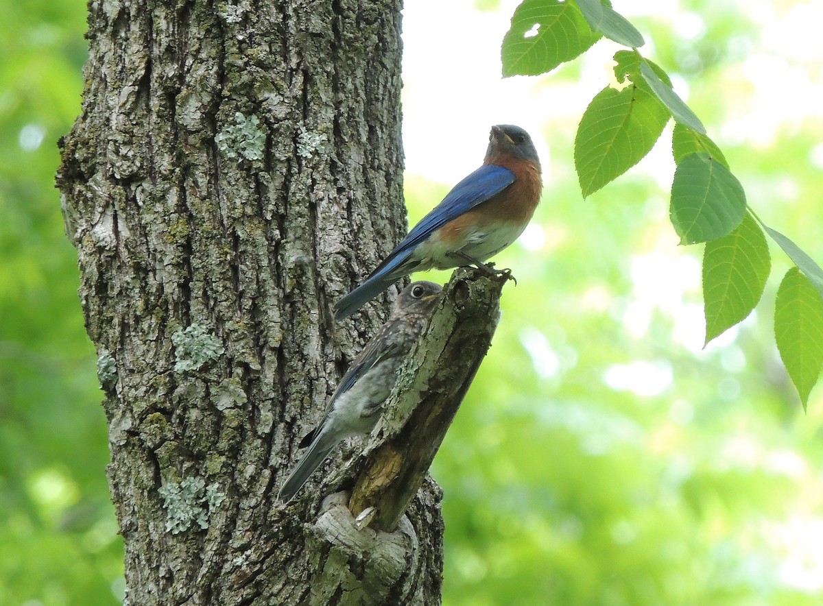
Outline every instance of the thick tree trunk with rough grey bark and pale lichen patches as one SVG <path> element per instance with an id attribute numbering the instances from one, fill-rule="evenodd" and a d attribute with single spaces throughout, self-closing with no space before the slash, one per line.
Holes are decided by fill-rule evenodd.
<path id="1" fill-rule="evenodd" d="M 439 604 L 436 488 L 355 543 L 316 530 L 316 481 L 275 501 L 385 312 L 331 304 L 405 234 L 400 3 L 89 6 L 58 187 L 127 604 Z"/>

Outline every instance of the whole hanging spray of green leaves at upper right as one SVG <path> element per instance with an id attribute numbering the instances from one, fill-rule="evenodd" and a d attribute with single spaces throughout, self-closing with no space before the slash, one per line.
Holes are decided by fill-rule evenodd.
<path id="1" fill-rule="evenodd" d="M 722 154 L 714 157 L 718 146 L 707 136 L 700 118 L 672 89 L 666 71 L 636 49 L 645 44 L 643 36 L 611 8 L 610 2 L 603 2 L 524 0 L 514 11 L 511 29 L 503 38 L 503 74 L 531 76 L 551 72 L 562 62 L 578 59 L 594 39 L 586 44 L 579 44 L 578 40 L 593 34 L 633 47 L 618 50 L 612 58 L 616 81 L 631 86 L 615 86 L 611 82 L 594 96 L 580 119 L 574 142 L 574 166 L 583 197 L 611 183 L 642 160 L 673 118 L 677 122 L 672 137 L 677 170 L 672 178 L 669 216 L 682 244 L 709 243 L 703 262 L 703 287 L 707 294 L 707 321 L 716 330 L 707 330 L 706 342 L 742 321 L 759 302 L 769 275 L 768 245 L 762 242 L 765 229 L 802 271 L 802 275 L 787 274 L 783 280 L 784 284 L 787 280 L 797 282 L 797 288 L 779 289 L 774 335 L 780 358 L 805 410 L 809 393 L 823 368 L 823 329 L 819 326 L 823 318 L 823 269 L 791 238 L 756 221 L 756 212 L 747 207 L 746 193 L 728 169 L 727 161 Z M 808 7 L 798 9 L 797 14 L 802 11 L 808 11 Z M 574 15 L 576 20 L 571 17 Z M 787 16 L 783 23 L 792 18 L 797 21 L 796 17 Z M 700 16 L 693 15 L 691 24 L 686 25 L 686 36 L 700 35 Z M 570 34 L 570 30 L 575 33 Z M 788 43 L 786 46 L 791 44 L 786 31 L 771 33 L 773 38 L 782 37 L 781 42 Z M 811 30 L 806 32 L 810 37 L 813 34 Z M 771 61 L 781 58 L 785 57 L 760 57 Z M 787 88 L 797 84 L 793 81 Z M 759 125 L 751 126 L 756 131 Z M 751 221 L 743 232 L 750 237 L 740 238 L 737 228 L 747 211 Z M 762 242 L 759 251 L 751 247 L 757 239 Z M 717 246 L 726 252 L 722 257 L 709 254 Z M 742 265 L 735 262 L 738 257 L 745 260 Z M 749 260 L 754 257 L 766 261 L 762 279 L 751 274 Z M 724 312 L 731 308 L 739 312 Z"/>

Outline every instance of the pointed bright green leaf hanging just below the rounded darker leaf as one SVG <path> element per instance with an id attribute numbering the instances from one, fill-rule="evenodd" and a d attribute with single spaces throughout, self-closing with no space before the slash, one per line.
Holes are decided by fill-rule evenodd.
<path id="1" fill-rule="evenodd" d="M 751 313 L 760 301 L 770 269 L 769 244 L 751 215 L 743 215 L 731 234 L 706 243 L 703 252 L 704 345 Z"/>

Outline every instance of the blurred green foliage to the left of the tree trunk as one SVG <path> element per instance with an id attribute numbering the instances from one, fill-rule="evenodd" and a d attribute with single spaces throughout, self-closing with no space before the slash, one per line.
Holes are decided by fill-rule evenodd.
<path id="1" fill-rule="evenodd" d="M 0 0 L 0 14 L 0 604 L 118 604 L 105 416 L 54 189 L 85 7 Z"/>

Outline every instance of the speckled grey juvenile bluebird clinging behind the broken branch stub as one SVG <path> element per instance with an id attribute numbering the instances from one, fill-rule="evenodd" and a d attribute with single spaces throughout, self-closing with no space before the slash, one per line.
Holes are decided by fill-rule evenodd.
<path id="1" fill-rule="evenodd" d="M 400 364 L 429 321 L 442 288 L 413 282 L 402 289 L 391 314 L 343 375 L 326 407 L 326 415 L 300 446 L 309 450 L 291 471 L 279 498 L 288 502 L 328 453 L 345 437 L 365 436 L 374 428 L 383 404 L 397 382 Z"/>

